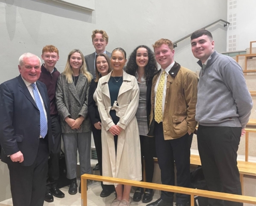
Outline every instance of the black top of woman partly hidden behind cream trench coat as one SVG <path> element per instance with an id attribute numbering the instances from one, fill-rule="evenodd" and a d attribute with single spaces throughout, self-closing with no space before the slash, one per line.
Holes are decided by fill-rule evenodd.
<path id="1" fill-rule="evenodd" d="M 92 80 L 90 87 L 89 87 L 89 94 L 88 94 L 88 114 L 91 119 L 92 125 L 97 122 L 101 122 L 98 106 L 96 106 L 96 102 L 93 99 L 93 95 L 97 89 L 98 82 L 95 82 L 95 78 Z"/>

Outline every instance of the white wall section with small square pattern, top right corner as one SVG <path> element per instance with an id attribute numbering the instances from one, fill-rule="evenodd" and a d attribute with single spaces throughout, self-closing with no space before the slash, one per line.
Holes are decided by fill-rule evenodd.
<path id="1" fill-rule="evenodd" d="M 256 41 L 256 1 L 228 0 L 227 51 L 244 50 Z M 253 44 L 256 47 L 256 43 Z"/>

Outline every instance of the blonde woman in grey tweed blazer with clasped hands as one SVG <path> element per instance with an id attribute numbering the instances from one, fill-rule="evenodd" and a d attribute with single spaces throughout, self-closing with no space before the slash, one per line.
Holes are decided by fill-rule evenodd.
<path id="1" fill-rule="evenodd" d="M 91 123 L 88 117 L 88 91 L 92 75 L 87 72 L 85 60 L 79 49 L 73 49 L 67 59 L 64 72 L 59 76 L 56 88 L 56 105 L 61 116 L 67 178 L 71 180 L 68 190 L 77 190 L 77 150 L 80 174 L 91 174 Z M 81 183 L 79 186 L 81 193 Z"/>

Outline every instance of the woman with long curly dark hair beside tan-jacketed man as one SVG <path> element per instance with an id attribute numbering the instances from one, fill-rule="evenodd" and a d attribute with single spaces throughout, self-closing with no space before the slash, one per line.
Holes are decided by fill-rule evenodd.
<path id="1" fill-rule="evenodd" d="M 139 126 L 140 142 L 141 142 L 141 157 L 145 159 L 146 181 L 152 182 L 154 173 L 154 157 L 155 139 L 148 137 L 148 119 L 147 113 L 150 113 L 150 106 L 146 104 L 146 99 L 150 98 L 152 78 L 157 72 L 157 63 L 154 53 L 145 45 L 140 45 L 131 53 L 126 72 L 135 76 L 140 88 L 139 107 L 136 113 L 136 118 Z M 143 161 L 142 161 L 143 164 Z M 143 167 L 142 167 L 143 168 Z M 138 187 L 133 195 L 133 201 L 140 201 L 144 189 Z M 142 202 L 147 203 L 153 199 L 153 190 L 146 189 Z"/>

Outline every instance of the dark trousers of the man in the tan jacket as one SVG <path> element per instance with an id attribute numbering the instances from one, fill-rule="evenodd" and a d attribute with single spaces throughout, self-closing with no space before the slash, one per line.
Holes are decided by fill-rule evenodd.
<path id="1" fill-rule="evenodd" d="M 175 185 L 174 161 L 177 169 L 177 186 L 190 186 L 190 147 L 192 134 L 174 140 L 164 140 L 163 124 L 155 122 L 156 153 L 158 164 L 161 169 L 162 184 Z M 161 191 L 161 199 L 173 202 L 171 192 Z M 186 194 L 176 194 L 176 202 L 187 204 L 190 196 Z"/>

